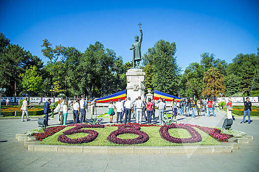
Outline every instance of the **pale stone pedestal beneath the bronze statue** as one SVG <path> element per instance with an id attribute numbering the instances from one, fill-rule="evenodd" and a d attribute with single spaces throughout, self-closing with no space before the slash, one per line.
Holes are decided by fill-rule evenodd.
<path id="1" fill-rule="evenodd" d="M 126 72 L 127 76 L 127 98 L 130 97 L 131 101 L 135 100 L 138 96 L 144 96 L 144 78 L 145 72 L 143 69 L 129 69 Z"/>

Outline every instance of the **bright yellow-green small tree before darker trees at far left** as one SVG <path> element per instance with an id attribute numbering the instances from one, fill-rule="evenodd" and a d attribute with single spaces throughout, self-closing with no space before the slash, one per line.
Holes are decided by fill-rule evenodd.
<path id="1" fill-rule="evenodd" d="M 27 67 L 25 73 L 20 74 L 22 86 L 28 92 L 40 92 L 42 90 L 42 77 L 36 72 L 36 66 Z"/>

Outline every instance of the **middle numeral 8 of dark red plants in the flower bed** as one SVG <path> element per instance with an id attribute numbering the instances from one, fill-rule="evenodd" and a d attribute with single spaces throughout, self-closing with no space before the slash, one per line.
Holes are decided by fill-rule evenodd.
<path id="1" fill-rule="evenodd" d="M 139 137 L 135 139 L 120 139 L 117 138 L 120 134 L 136 134 Z M 138 125 L 121 125 L 118 127 L 118 130 L 111 132 L 108 136 L 108 140 L 112 143 L 116 144 L 139 144 L 145 143 L 149 140 L 147 133 L 140 131 L 140 127 Z"/>

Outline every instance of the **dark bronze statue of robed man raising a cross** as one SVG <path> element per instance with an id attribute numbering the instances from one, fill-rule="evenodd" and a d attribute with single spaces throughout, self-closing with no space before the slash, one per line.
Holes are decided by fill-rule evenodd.
<path id="1" fill-rule="evenodd" d="M 142 42 L 142 30 L 140 31 L 140 39 L 135 36 L 135 43 L 132 44 L 129 50 L 133 50 L 133 68 L 139 68 L 139 61 L 141 60 L 141 42 Z"/>

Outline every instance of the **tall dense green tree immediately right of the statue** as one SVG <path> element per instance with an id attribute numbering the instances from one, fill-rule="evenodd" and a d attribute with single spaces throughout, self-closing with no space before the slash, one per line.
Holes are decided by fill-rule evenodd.
<path id="1" fill-rule="evenodd" d="M 144 54 L 143 64 L 152 65 L 154 68 L 154 76 L 151 86 L 159 91 L 177 95 L 181 68 L 176 62 L 174 56 L 176 52 L 175 42 L 160 40 L 154 47 L 149 48 Z M 145 68 L 144 68 L 145 69 Z M 148 73 L 148 75 L 150 75 Z M 149 76 L 148 76 L 149 77 Z"/>

